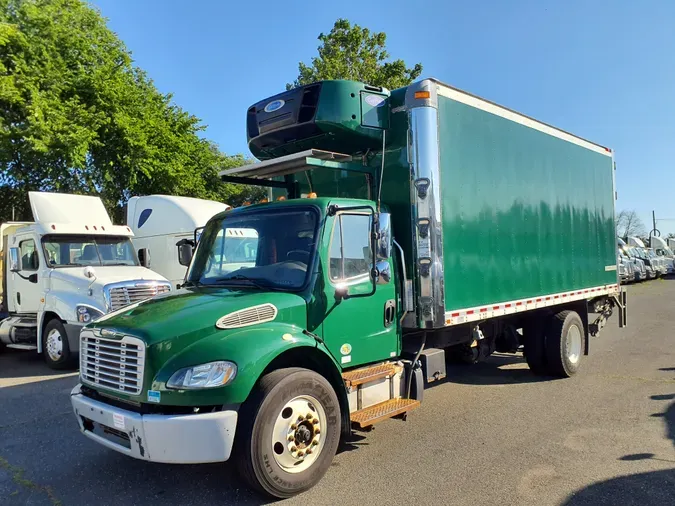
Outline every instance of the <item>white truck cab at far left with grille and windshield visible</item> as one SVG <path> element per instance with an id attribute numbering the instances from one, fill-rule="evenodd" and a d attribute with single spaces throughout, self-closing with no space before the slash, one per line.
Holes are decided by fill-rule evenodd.
<path id="1" fill-rule="evenodd" d="M 171 287 L 141 266 L 133 232 L 112 224 L 100 198 L 29 199 L 34 222 L 0 226 L 0 343 L 37 350 L 60 369 L 74 363 L 83 325 Z"/>

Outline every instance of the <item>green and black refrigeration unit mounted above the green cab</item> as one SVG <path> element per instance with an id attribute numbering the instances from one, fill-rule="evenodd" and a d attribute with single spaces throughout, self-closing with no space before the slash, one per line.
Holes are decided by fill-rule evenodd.
<path id="1" fill-rule="evenodd" d="M 354 155 L 379 150 L 389 126 L 389 91 L 321 81 L 261 100 L 246 115 L 248 146 L 260 159 L 308 149 Z"/>

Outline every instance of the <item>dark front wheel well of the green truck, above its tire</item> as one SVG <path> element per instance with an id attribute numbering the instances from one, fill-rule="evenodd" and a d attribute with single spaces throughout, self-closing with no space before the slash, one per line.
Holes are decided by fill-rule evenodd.
<path id="1" fill-rule="evenodd" d="M 335 364 L 324 353 L 316 348 L 303 346 L 300 348 L 292 348 L 281 353 L 265 368 L 260 377 L 275 371 L 277 369 L 284 369 L 286 367 L 303 367 L 314 371 L 324 378 L 326 378 L 340 401 L 340 413 L 342 415 L 342 437 L 345 438 L 351 434 L 351 422 L 349 419 L 349 401 L 347 399 L 347 391 L 342 375 L 335 367 Z"/>

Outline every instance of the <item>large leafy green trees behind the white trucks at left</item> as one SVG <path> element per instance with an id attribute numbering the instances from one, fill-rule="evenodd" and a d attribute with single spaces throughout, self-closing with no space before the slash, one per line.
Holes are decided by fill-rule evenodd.
<path id="1" fill-rule="evenodd" d="M 113 218 L 132 195 L 237 204 L 217 171 L 245 162 L 200 137 L 82 0 L 0 0 L 0 221 L 31 219 L 30 190 L 99 194 Z"/>

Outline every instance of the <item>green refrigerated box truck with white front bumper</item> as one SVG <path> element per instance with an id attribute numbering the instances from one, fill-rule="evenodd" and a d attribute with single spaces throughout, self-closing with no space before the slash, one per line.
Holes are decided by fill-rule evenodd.
<path id="1" fill-rule="evenodd" d="M 269 198 L 177 245 L 180 290 L 81 333 L 71 399 L 100 444 L 232 456 L 288 497 L 446 361 L 522 350 L 567 377 L 613 311 L 625 324 L 609 149 L 433 79 L 295 88 L 247 134 L 261 162 L 221 176 Z"/>

